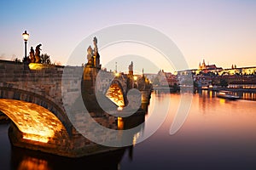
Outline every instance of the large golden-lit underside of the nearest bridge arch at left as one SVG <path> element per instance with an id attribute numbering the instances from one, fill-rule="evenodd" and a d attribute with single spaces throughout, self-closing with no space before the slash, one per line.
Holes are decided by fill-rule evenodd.
<path id="1" fill-rule="evenodd" d="M 23 139 L 47 143 L 66 131 L 61 121 L 44 107 L 15 99 L 0 99 L 0 111 L 15 123 Z"/>

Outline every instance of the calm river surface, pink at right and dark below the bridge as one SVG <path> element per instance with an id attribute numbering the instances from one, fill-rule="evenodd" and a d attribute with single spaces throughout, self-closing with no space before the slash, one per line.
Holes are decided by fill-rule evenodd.
<path id="1" fill-rule="evenodd" d="M 256 101 L 219 99 L 214 92 L 193 94 L 189 116 L 170 135 L 179 94 L 153 93 L 154 109 L 165 122 L 148 139 L 112 154 L 71 160 L 12 148 L 9 124 L 0 125 L 0 169 L 256 169 Z M 247 96 L 247 94 L 245 95 Z M 180 106 L 182 107 L 182 105 Z M 147 130 L 147 123 L 145 129 Z M 92 167 L 91 167 L 92 166 Z"/>

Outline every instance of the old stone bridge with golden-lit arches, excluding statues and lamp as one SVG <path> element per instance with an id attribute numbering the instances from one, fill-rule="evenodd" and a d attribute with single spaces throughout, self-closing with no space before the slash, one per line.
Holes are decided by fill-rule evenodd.
<path id="1" fill-rule="evenodd" d="M 127 92 L 134 82 L 127 75 L 113 76 L 82 66 L 24 65 L 0 60 L 0 80 L 0 111 L 12 121 L 9 139 L 13 145 L 68 157 L 116 149 L 86 139 L 73 126 L 73 119 L 80 127 L 90 127 L 90 123 L 77 113 L 72 118 L 67 116 L 67 111 L 79 112 L 79 107 L 73 108 L 82 99 L 96 122 L 118 129 L 118 117 L 100 108 L 103 104 L 117 110 L 129 103 Z M 150 93 L 146 94 L 149 99 Z M 99 95 L 104 100 L 102 104 L 96 102 Z M 101 134 L 93 128 L 86 133 Z M 117 138 L 111 133 L 108 136 Z"/>

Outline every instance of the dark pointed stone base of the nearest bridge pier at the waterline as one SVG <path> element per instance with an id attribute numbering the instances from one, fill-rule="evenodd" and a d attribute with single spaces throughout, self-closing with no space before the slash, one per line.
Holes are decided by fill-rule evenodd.
<path id="1" fill-rule="evenodd" d="M 24 134 L 20 132 L 15 124 L 11 122 L 9 127 L 9 139 L 11 144 L 15 147 L 38 150 L 48 154 L 71 158 L 119 150 L 118 148 L 111 148 L 100 144 L 92 144 L 89 139 L 85 139 L 80 133 L 73 133 L 73 138 L 62 135 L 61 139 L 52 139 L 47 143 L 23 139 L 23 135 Z"/>

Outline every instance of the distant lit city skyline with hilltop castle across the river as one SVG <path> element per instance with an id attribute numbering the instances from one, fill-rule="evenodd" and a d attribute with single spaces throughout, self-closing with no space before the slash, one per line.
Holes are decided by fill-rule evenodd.
<path id="1" fill-rule="evenodd" d="M 171 87 L 186 82 L 190 75 L 198 88 L 218 87 L 223 80 L 228 83 L 228 88 L 256 88 L 256 66 L 238 68 L 231 65 L 223 69 L 216 65 L 206 65 L 204 59 L 197 69 L 176 71 L 174 74 L 161 70 L 158 74 L 147 74 L 147 77 L 156 86 Z"/>

